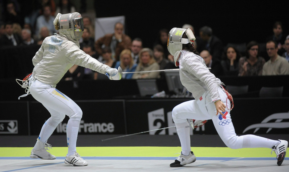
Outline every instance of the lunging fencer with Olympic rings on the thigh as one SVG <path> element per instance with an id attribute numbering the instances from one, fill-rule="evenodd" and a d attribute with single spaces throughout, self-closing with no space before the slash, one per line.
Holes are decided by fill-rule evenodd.
<path id="1" fill-rule="evenodd" d="M 195 37 L 190 29 L 172 28 L 169 32 L 168 50 L 179 66 L 182 85 L 190 91 L 195 100 L 183 102 L 172 110 L 181 142 L 181 155 L 170 167 L 181 167 L 196 161 L 191 151 L 190 128 L 187 119 L 208 120 L 213 124 L 222 141 L 229 148 L 271 148 L 281 165 L 288 146 L 286 140 L 271 140 L 255 135 L 237 136 L 230 116 L 231 104 L 222 82 L 216 78 L 194 50 Z"/>

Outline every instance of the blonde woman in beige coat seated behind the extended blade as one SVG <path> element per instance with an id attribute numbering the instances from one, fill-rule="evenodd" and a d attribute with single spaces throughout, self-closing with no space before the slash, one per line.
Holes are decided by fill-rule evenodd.
<path id="1" fill-rule="evenodd" d="M 142 48 L 139 52 L 139 63 L 135 71 L 160 70 L 160 66 L 154 59 L 154 53 L 150 48 Z M 156 79 L 159 78 L 160 72 L 134 73 L 132 79 Z"/>

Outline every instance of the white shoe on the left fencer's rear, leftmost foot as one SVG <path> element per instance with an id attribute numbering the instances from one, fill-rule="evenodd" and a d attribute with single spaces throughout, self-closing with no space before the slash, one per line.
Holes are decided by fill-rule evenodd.
<path id="1" fill-rule="evenodd" d="M 47 150 L 51 148 L 51 145 L 48 143 L 40 142 L 38 141 L 36 144 L 41 145 L 43 147 L 40 150 L 36 150 L 35 147 L 31 150 L 30 158 L 40 158 L 40 159 L 47 159 L 47 160 L 52 160 L 56 159 L 54 155 L 51 155 Z"/>

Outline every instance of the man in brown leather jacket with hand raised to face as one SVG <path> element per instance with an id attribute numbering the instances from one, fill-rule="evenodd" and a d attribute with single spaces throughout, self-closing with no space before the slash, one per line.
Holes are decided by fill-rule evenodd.
<path id="1" fill-rule="evenodd" d="M 123 24 L 117 22 L 114 25 L 114 33 L 106 34 L 95 42 L 95 50 L 101 54 L 102 48 L 108 46 L 111 49 L 113 60 L 119 61 L 120 52 L 130 49 L 131 45 L 132 39 L 123 33 Z"/>

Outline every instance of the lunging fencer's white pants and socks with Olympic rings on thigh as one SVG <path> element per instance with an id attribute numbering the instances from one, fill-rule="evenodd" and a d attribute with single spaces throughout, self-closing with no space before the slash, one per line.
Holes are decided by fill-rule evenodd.
<path id="1" fill-rule="evenodd" d="M 191 149 L 189 130 L 186 130 L 189 126 L 187 119 L 212 119 L 222 141 L 232 149 L 256 147 L 272 148 L 277 143 L 280 143 L 276 140 L 270 140 L 255 135 L 237 136 L 230 115 L 230 101 L 221 88 L 218 88 L 218 92 L 222 102 L 227 107 L 224 116 L 221 114 L 216 115 L 216 106 L 212 103 L 212 99 L 208 92 L 202 95 L 201 100 L 197 99 L 183 102 L 173 108 L 172 118 L 176 124 L 176 129 L 181 141 L 182 152 L 184 151 L 188 154 L 188 151 L 190 151 L 188 149 Z"/>

